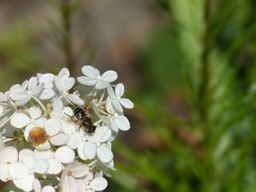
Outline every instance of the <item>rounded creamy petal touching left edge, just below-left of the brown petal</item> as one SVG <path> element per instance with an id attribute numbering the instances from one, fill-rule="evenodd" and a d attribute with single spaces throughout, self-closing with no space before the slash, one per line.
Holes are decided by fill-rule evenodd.
<path id="1" fill-rule="evenodd" d="M 0 162 L 12 163 L 18 160 L 18 151 L 14 147 L 6 147 L 0 151 Z"/>

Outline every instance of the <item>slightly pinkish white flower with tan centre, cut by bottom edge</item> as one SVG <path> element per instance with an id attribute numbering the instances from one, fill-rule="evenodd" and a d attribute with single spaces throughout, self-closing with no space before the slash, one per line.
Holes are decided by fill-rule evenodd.
<path id="1" fill-rule="evenodd" d="M 83 188 L 84 184 L 78 181 L 85 177 L 88 173 L 89 166 L 87 164 L 76 162 L 69 165 L 61 175 L 60 191 L 76 192 L 78 189 Z M 85 191 L 85 188 L 83 191 Z"/>

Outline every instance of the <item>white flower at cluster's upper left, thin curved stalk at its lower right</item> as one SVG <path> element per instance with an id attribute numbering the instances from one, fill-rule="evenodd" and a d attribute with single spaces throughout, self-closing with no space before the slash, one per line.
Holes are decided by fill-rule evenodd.
<path id="1" fill-rule="evenodd" d="M 32 77 L 26 80 L 23 85 L 15 85 L 10 89 L 9 96 L 16 101 L 16 105 L 23 105 L 29 102 L 32 97 L 38 96 L 43 89 L 43 84 L 38 84 L 38 79 Z"/>

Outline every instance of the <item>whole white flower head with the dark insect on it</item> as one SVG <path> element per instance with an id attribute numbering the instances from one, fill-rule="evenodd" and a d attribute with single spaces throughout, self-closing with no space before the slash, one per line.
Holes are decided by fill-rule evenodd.
<path id="1" fill-rule="evenodd" d="M 130 123 L 124 86 L 114 71 L 67 68 L 37 74 L 0 93 L 0 180 L 23 191 L 94 192 L 107 186 L 113 167 L 111 142 Z M 46 183 L 46 184 L 45 184 Z"/>

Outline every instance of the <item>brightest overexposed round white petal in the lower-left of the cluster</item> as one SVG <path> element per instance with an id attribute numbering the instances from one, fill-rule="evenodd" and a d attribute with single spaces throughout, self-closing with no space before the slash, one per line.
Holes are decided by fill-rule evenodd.
<path id="1" fill-rule="evenodd" d="M 29 169 L 22 162 L 14 162 L 9 169 L 13 179 L 23 179 L 29 174 Z"/>

